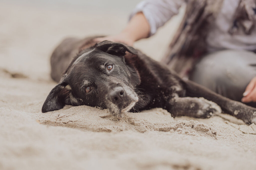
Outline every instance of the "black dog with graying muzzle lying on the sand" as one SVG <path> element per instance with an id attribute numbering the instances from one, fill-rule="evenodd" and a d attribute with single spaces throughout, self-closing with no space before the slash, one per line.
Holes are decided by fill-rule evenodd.
<path id="1" fill-rule="evenodd" d="M 108 108 L 120 119 L 122 112 L 158 107 L 173 116 L 207 118 L 220 111 L 217 103 L 225 113 L 247 124 L 256 123 L 256 108 L 184 81 L 130 46 L 96 43 L 94 38 L 69 38 L 55 49 L 51 76 L 60 83 L 51 90 L 42 112 L 59 110 L 65 104 L 88 105 Z"/>

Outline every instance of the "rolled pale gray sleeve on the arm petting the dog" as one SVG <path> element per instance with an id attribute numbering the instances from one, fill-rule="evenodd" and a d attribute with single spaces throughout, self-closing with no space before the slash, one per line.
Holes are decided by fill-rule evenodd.
<path id="1" fill-rule="evenodd" d="M 144 0 L 132 11 L 129 20 L 138 12 L 143 12 L 150 24 L 150 36 L 163 26 L 173 15 L 178 14 L 184 0 Z"/>

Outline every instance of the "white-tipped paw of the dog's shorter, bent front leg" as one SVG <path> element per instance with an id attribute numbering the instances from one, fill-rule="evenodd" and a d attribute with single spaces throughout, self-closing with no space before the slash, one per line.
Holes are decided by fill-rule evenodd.
<path id="1" fill-rule="evenodd" d="M 209 118 L 214 114 L 221 113 L 221 108 L 218 106 L 218 104 L 206 100 L 204 98 L 199 98 L 200 100 L 200 107 L 196 113 L 197 118 Z"/>

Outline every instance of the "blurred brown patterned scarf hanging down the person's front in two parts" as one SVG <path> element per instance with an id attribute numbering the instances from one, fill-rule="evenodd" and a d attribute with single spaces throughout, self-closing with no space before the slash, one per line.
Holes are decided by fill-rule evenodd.
<path id="1" fill-rule="evenodd" d="M 163 63 L 186 76 L 197 61 L 206 54 L 206 36 L 214 23 L 223 0 L 188 0 L 185 16 L 169 45 Z M 236 34 L 242 28 L 250 34 L 256 25 L 256 0 L 241 0 L 230 26 L 229 33 Z"/>

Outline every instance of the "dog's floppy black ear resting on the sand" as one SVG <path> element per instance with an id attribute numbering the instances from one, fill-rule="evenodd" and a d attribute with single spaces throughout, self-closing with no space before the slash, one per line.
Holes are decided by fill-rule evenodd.
<path id="1" fill-rule="evenodd" d="M 71 87 L 67 83 L 62 82 L 50 91 L 42 106 L 42 112 L 62 109 L 65 104 L 78 106 L 79 101 L 73 96 Z"/>

